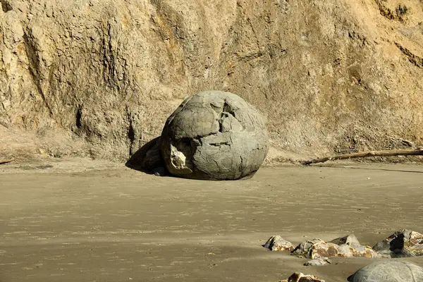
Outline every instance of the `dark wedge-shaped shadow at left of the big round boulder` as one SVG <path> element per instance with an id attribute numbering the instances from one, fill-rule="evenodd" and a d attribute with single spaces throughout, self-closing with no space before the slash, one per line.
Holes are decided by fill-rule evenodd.
<path id="1" fill-rule="evenodd" d="M 160 137 L 154 138 L 138 149 L 125 166 L 156 176 L 168 176 L 166 165 L 161 158 Z"/>

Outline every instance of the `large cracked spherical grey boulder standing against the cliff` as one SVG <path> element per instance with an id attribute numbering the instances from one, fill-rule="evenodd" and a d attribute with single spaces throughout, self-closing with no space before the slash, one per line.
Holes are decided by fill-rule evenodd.
<path id="1" fill-rule="evenodd" d="M 250 178 L 268 149 L 262 116 L 229 92 L 206 91 L 185 99 L 161 133 L 166 168 L 183 178 Z"/>

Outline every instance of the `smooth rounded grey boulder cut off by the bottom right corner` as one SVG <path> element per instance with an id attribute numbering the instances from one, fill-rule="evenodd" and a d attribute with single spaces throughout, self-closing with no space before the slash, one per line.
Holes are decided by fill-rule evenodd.
<path id="1" fill-rule="evenodd" d="M 409 262 L 389 260 L 374 262 L 348 277 L 350 282 L 421 282 L 423 268 Z"/>

